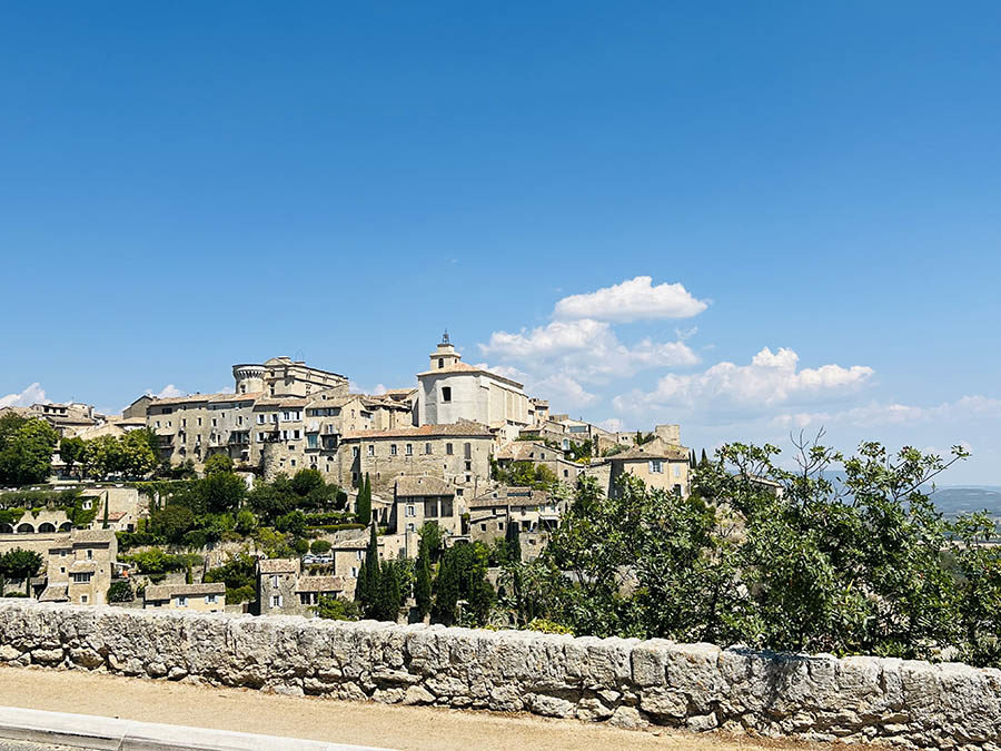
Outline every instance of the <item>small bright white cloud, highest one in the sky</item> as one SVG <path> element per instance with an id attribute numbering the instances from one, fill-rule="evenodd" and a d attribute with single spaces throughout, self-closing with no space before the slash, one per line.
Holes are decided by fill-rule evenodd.
<path id="1" fill-rule="evenodd" d="M 707 307 L 681 284 L 653 286 L 653 278 L 637 276 L 584 295 L 571 295 L 556 303 L 554 318 L 594 318 L 625 323 L 657 318 L 691 318 Z"/>

